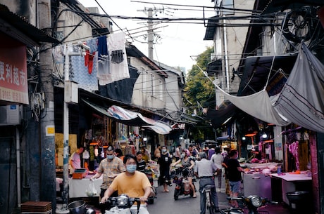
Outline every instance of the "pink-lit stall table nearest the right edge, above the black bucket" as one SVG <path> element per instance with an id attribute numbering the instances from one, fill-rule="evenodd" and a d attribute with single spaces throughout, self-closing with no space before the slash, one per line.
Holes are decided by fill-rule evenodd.
<path id="1" fill-rule="evenodd" d="M 306 171 L 297 173 L 278 173 L 270 174 L 271 177 L 280 178 L 282 186 L 282 201 L 289 204 L 287 192 L 294 191 L 309 191 L 311 192 L 311 176 L 308 176 Z"/>

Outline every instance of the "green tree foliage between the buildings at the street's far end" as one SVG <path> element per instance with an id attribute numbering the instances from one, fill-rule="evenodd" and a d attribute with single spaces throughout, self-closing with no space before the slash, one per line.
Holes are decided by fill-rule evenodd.
<path id="1" fill-rule="evenodd" d="M 209 47 L 204 53 L 201 53 L 197 58 L 197 64 L 193 65 L 187 74 L 185 98 L 189 102 L 185 103 L 185 106 L 189 111 L 198 108 L 197 102 L 202 105 L 206 100 L 210 100 L 211 98 L 215 100 L 215 87 L 201 71 L 201 69 L 204 72 L 206 71 L 212 52 L 213 48 Z"/>

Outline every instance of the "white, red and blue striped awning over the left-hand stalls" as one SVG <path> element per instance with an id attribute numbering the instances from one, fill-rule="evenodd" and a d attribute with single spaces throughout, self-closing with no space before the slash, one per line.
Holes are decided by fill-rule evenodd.
<path id="1" fill-rule="evenodd" d="M 155 131 L 156 133 L 161 135 L 166 135 L 172 130 L 172 128 L 163 121 L 155 121 L 154 119 L 149 119 L 140 113 L 132 112 L 117 105 L 112 105 L 111 107 L 106 109 L 86 100 L 83 101 L 87 105 L 89 105 L 89 107 L 95 109 L 97 112 L 109 116 L 119 123 L 123 123 L 127 126 L 141 126 L 143 128 L 148 128 L 152 131 Z"/>

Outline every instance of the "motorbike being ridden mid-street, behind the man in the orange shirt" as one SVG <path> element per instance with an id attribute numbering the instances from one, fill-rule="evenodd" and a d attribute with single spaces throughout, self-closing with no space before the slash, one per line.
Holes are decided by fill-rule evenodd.
<path id="1" fill-rule="evenodd" d="M 175 192 L 173 197 L 175 200 L 179 199 L 179 196 L 194 195 L 196 189 L 192 189 L 189 185 L 189 180 L 187 179 L 188 169 L 183 168 L 181 173 L 176 174 L 173 178 L 173 183 L 175 184 Z"/>

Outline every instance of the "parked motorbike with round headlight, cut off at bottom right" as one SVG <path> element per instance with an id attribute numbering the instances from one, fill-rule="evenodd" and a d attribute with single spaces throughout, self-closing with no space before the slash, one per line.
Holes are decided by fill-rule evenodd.
<path id="1" fill-rule="evenodd" d="M 240 196 L 240 197 L 227 197 L 228 200 L 236 200 L 239 204 L 242 204 L 242 207 L 239 208 L 228 208 L 221 209 L 220 213 L 223 214 L 269 214 L 268 211 L 258 210 L 261 206 L 265 206 L 267 203 L 278 203 L 275 201 L 268 201 L 266 198 L 261 198 L 257 195 L 251 196 Z M 242 203 L 240 203 L 242 202 Z M 247 212 L 244 212 L 244 208 L 247 209 Z"/>

